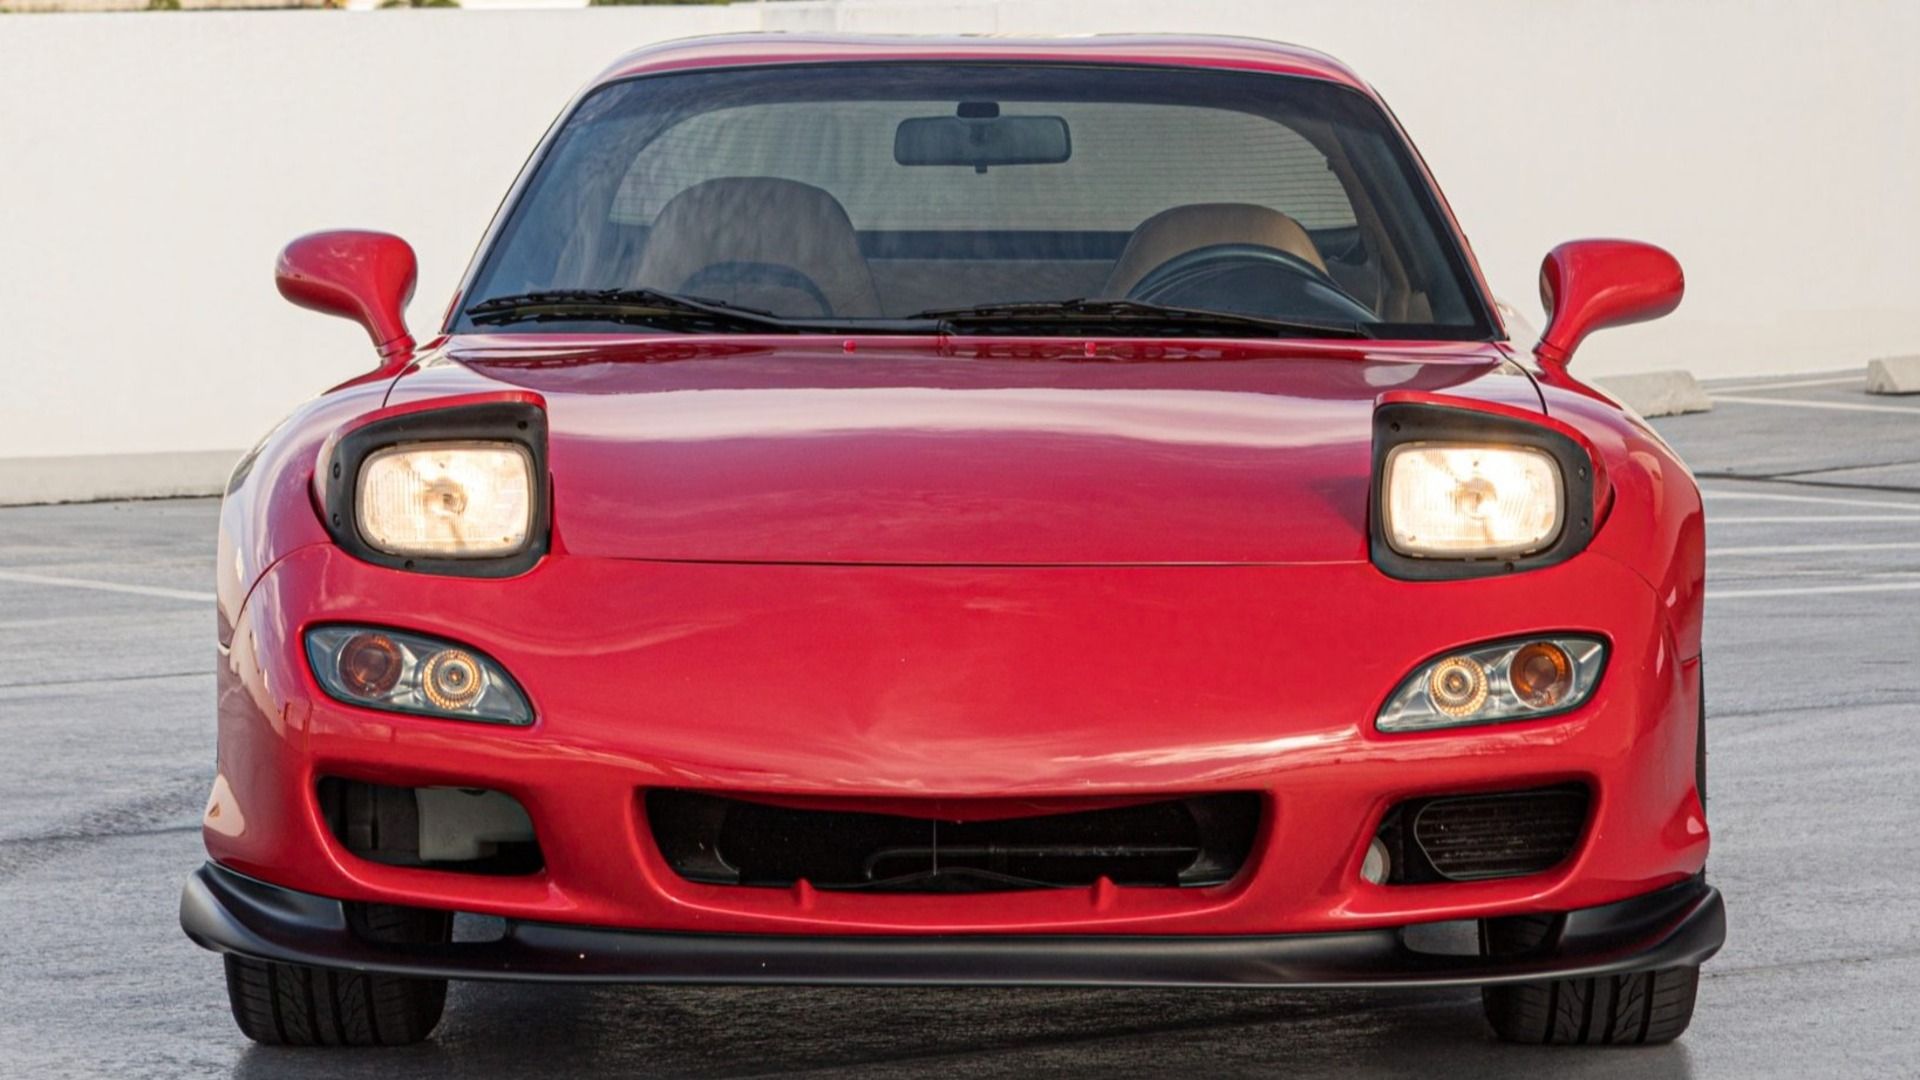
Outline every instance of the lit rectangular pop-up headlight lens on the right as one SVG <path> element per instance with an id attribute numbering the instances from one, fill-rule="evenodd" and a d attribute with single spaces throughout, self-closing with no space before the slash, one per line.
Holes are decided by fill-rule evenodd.
<path id="1" fill-rule="evenodd" d="M 1561 473 L 1524 446 L 1407 444 L 1386 455 L 1386 542 L 1402 555 L 1517 557 L 1561 530 Z"/>

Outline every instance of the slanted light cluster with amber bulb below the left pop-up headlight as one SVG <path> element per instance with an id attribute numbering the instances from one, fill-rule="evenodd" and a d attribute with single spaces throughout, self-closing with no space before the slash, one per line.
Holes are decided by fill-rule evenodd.
<path id="1" fill-rule="evenodd" d="M 530 724 L 534 709 L 492 659 L 420 634 L 371 626 L 319 626 L 307 632 L 307 663 L 332 698 L 351 705 Z"/>

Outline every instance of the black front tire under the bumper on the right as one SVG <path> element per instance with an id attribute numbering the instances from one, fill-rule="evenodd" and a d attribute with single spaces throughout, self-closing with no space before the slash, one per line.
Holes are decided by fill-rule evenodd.
<path id="1" fill-rule="evenodd" d="M 1551 917 L 1490 919 L 1482 924 L 1488 955 L 1515 955 L 1540 945 Z M 1697 967 L 1668 967 L 1594 978 L 1555 978 L 1486 986 L 1480 1003 L 1501 1042 L 1532 1045 L 1659 1045 L 1693 1022 Z"/>

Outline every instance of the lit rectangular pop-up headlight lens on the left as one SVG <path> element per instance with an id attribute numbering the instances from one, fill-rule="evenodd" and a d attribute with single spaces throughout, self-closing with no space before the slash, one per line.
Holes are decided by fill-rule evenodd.
<path id="1" fill-rule="evenodd" d="M 394 555 L 511 555 L 534 525 L 534 459 L 513 442 L 390 446 L 361 465 L 355 515 Z"/>

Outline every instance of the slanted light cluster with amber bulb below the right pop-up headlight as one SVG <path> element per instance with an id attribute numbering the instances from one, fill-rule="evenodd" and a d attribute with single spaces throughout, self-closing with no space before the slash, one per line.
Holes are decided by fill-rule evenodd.
<path id="1" fill-rule="evenodd" d="M 1463 650 L 1415 671 L 1380 709 L 1382 732 L 1494 724 L 1561 713 L 1599 684 L 1597 638 L 1532 638 Z"/>

